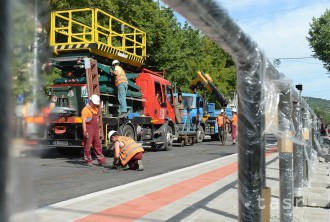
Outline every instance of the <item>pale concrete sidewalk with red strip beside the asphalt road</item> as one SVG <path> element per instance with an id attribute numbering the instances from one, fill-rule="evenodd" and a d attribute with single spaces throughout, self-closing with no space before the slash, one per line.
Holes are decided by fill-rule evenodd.
<path id="1" fill-rule="evenodd" d="M 278 153 L 269 152 L 266 161 L 267 186 L 272 189 L 271 220 L 278 221 Z M 319 167 L 329 172 L 327 163 L 321 163 Z M 321 176 L 324 176 L 323 181 L 329 177 Z M 328 222 L 329 213 L 329 209 L 303 207 L 294 210 L 294 217 L 298 221 Z M 12 221 L 61 222 L 133 220 L 237 221 L 237 154 L 17 214 L 12 218 Z"/>

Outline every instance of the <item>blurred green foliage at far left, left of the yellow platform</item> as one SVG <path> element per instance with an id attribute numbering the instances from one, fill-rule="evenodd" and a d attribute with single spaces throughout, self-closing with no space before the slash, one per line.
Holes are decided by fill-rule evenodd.
<path id="1" fill-rule="evenodd" d="M 11 73 L 12 73 L 12 96 L 15 101 L 18 95 L 24 97 L 24 101 L 32 100 L 33 87 L 42 91 L 46 85 L 50 85 L 53 78 L 46 72 L 42 72 L 41 65 L 48 61 L 50 56 L 48 46 L 48 32 L 46 27 L 49 23 L 49 4 L 47 0 L 38 0 L 38 25 L 35 23 L 35 1 L 13 1 L 12 4 L 12 30 L 11 30 Z M 37 71 L 39 79 L 34 79 L 33 59 L 34 40 L 37 35 Z M 55 75 L 54 75 L 55 76 Z M 41 80 L 42 84 L 37 84 Z M 44 96 L 39 96 L 38 100 Z"/>

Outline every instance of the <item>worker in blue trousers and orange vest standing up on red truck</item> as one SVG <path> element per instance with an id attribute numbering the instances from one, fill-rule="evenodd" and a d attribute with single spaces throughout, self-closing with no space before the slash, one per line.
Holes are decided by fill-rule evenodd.
<path id="1" fill-rule="evenodd" d="M 112 66 L 114 68 L 112 73 L 115 75 L 115 84 L 118 88 L 119 116 L 121 116 L 127 113 L 126 94 L 128 81 L 126 73 L 124 69 L 119 65 L 118 60 L 113 60 Z"/>

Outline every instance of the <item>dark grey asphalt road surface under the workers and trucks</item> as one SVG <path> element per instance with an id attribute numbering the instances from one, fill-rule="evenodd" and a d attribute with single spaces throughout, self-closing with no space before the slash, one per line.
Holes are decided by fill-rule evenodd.
<path id="1" fill-rule="evenodd" d="M 43 207 L 236 153 L 237 147 L 229 145 L 230 140 L 227 143 L 222 146 L 218 141 L 205 141 L 193 146 L 173 146 L 171 151 L 146 150 L 144 171 L 118 171 L 110 166 L 98 166 L 96 160 L 92 167 L 87 167 L 82 155 L 65 157 L 55 149 L 46 150 L 43 155 L 29 151 L 11 161 L 15 166 L 12 167 L 12 205 Z M 113 158 L 107 157 L 107 161 L 111 164 Z"/>

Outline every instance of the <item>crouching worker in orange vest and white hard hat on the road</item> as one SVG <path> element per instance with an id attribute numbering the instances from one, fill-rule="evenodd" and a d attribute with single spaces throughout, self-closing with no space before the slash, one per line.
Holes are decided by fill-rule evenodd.
<path id="1" fill-rule="evenodd" d="M 109 132 L 109 140 L 113 144 L 113 168 L 144 170 L 142 158 L 143 147 L 131 137 L 119 136 L 117 131 Z"/>

